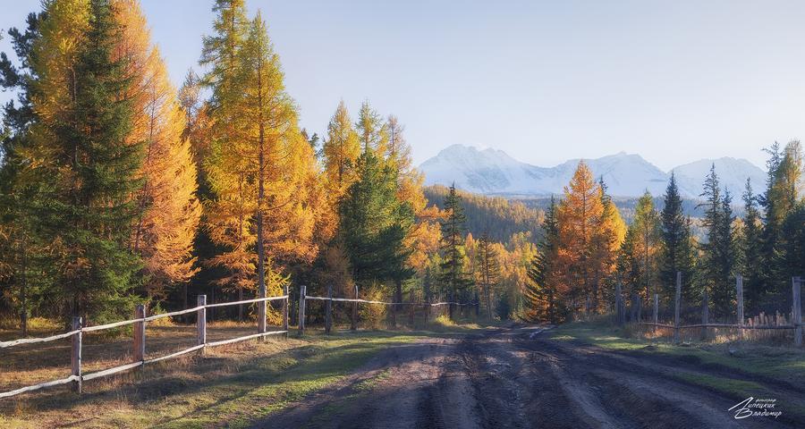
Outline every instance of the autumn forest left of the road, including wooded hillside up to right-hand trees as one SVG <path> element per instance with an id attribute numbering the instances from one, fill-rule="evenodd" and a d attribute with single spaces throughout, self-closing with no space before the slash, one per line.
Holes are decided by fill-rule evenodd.
<path id="1" fill-rule="evenodd" d="M 98 324 L 300 284 L 522 308 L 538 212 L 455 189 L 428 205 L 402 122 L 368 101 L 334 100 L 325 136 L 301 129 L 261 14 L 213 11 L 181 88 L 137 0 L 47 0 L 7 32 L 0 311 L 23 334 L 30 316 Z"/>

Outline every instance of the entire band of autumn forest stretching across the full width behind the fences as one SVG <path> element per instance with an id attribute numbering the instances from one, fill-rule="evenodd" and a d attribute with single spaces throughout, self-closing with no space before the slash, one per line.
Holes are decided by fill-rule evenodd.
<path id="1" fill-rule="evenodd" d="M 661 213 L 647 195 L 627 227 L 583 163 L 544 212 L 425 189 L 393 114 L 333 100 L 326 135 L 301 129 L 262 15 L 243 0 L 216 0 L 213 12 L 181 88 L 137 0 L 46 0 L 7 32 L 17 61 L 0 55 L 0 87 L 17 98 L 0 130 L 0 313 L 23 334 L 30 316 L 99 324 L 137 304 L 191 307 L 198 294 L 221 302 L 292 285 L 295 298 L 301 284 L 477 299 L 490 318 L 559 321 L 605 311 L 617 281 L 667 299 L 676 271 L 685 299 L 708 290 L 722 311 L 734 273 L 750 308 L 802 274 L 798 142 L 769 149 L 767 189 L 748 187 L 741 219 L 711 172 L 706 240 L 691 234 L 673 180 Z"/>

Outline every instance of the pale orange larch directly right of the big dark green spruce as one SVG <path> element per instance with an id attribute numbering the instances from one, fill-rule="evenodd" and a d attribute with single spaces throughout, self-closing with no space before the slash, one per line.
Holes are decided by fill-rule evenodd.
<path id="1" fill-rule="evenodd" d="M 127 58 L 131 76 L 132 128 L 127 139 L 144 142 L 143 185 L 138 200 L 143 214 L 131 232 L 131 249 L 143 258 L 149 298 L 162 299 L 167 288 L 189 282 L 196 273 L 193 240 L 201 206 L 196 198 L 196 165 L 185 117 L 165 70 L 139 1 L 114 2 L 122 37 L 115 55 Z"/>

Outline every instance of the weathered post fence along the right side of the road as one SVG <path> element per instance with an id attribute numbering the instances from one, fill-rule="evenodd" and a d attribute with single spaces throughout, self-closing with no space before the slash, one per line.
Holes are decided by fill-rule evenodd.
<path id="1" fill-rule="evenodd" d="M 709 309 L 708 309 L 708 295 L 705 292 L 702 297 L 702 314 L 701 324 L 680 324 L 680 296 L 682 291 L 682 273 L 676 273 L 676 293 L 674 296 L 674 324 L 661 324 L 658 320 L 658 305 L 659 297 L 654 295 L 654 315 L 653 322 L 638 322 L 640 325 L 653 326 L 656 328 L 668 328 L 674 330 L 674 342 L 679 342 L 679 332 L 682 329 L 708 329 L 708 328 L 730 328 L 737 329 L 740 339 L 743 339 L 743 332 L 747 330 L 793 330 L 794 333 L 794 346 L 802 346 L 802 307 L 801 307 L 801 288 L 802 278 L 792 277 L 792 311 L 790 324 L 776 324 L 780 320 L 785 320 L 784 317 L 777 315 L 775 317 L 775 324 L 764 324 L 767 321 L 765 316 L 755 317 L 747 320 L 743 315 L 743 278 L 741 275 L 735 277 L 735 296 L 736 296 L 736 315 L 738 319 L 737 324 L 712 324 L 709 322 Z M 623 295 L 621 292 L 621 285 L 617 284 L 615 287 L 615 317 L 617 324 L 623 324 L 626 319 L 625 304 L 623 303 Z M 759 323 L 758 323 L 759 322 Z"/>

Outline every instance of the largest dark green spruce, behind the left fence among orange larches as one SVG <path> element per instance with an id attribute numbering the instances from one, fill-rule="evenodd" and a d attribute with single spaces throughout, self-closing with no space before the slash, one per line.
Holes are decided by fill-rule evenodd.
<path id="1" fill-rule="evenodd" d="M 140 258 L 127 248 L 131 224 L 146 207 L 131 196 L 138 179 L 143 142 L 131 132 L 131 77 L 125 58 L 114 59 L 121 29 L 106 0 L 89 2 L 89 29 L 74 64 L 70 105 L 61 120 L 45 123 L 58 175 L 54 198 L 43 200 L 41 218 L 57 243 L 55 284 L 67 301 L 64 315 L 131 315 L 122 305 L 139 280 Z"/>

